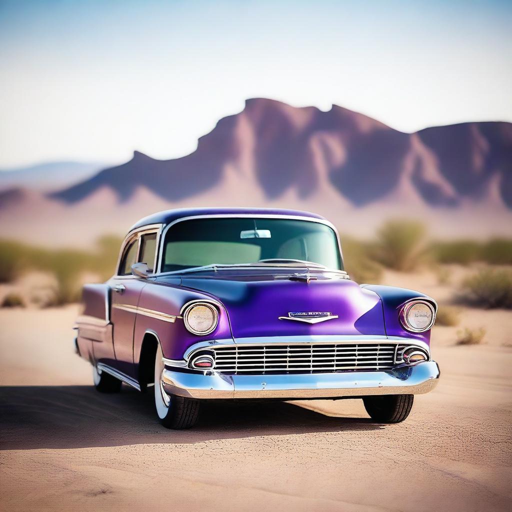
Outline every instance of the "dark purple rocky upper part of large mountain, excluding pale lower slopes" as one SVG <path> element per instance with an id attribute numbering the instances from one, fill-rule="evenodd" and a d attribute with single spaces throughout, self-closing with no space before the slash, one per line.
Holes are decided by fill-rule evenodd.
<path id="1" fill-rule="evenodd" d="M 431 206 L 481 200 L 493 180 L 512 208 L 512 124 L 471 122 L 401 133 L 333 105 L 328 112 L 268 99 L 221 119 L 183 158 L 132 160 L 51 197 L 75 203 L 101 187 L 129 201 L 139 186 L 180 201 L 225 179 L 226 168 L 253 175 L 267 199 L 295 190 L 305 201 L 317 191 L 321 168 L 330 186 L 354 206 L 365 206 L 407 187 Z M 404 183 L 405 182 L 405 183 Z"/>

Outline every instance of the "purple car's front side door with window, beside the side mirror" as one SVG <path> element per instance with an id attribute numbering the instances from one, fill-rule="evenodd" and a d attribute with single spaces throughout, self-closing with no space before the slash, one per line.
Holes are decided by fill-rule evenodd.
<path id="1" fill-rule="evenodd" d="M 158 229 L 134 233 L 124 244 L 118 275 L 111 280 L 112 313 L 116 368 L 135 377 L 133 334 L 139 297 L 147 281 L 132 274 L 134 263 L 146 263 L 153 273 Z"/>

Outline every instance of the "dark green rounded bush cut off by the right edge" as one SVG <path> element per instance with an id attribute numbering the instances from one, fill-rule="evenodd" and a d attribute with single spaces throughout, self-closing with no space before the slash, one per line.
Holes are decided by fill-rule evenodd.
<path id="1" fill-rule="evenodd" d="M 463 281 L 459 300 L 482 308 L 512 309 L 512 269 L 479 270 Z"/>

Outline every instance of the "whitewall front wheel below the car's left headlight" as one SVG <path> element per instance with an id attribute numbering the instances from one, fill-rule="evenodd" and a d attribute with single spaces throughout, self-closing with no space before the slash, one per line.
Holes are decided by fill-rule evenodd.
<path id="1" fill-rule="evenodd" d="M 162 349 L 158 345 L 155 357 L 155 406 L 160 423 L 167 429 L 189 429 L 199 418 L 200 402 L 165 393 L 162 385 L 163 369 Z"/>

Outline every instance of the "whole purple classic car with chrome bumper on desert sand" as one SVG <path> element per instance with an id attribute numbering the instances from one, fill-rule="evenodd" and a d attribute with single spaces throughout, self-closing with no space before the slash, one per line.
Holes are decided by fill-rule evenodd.
<path id="1" fill-rule="evenodd" d="M 397 423 L 439 379 L 435 301 L 351 281 L 336 229 L 304 211 L 146 217 L 83 303 L 75 346 L 96 389 L 153 387 L 168 428 L 194 425 L 218 399 L 360 398 L 375 421 Z"/>

